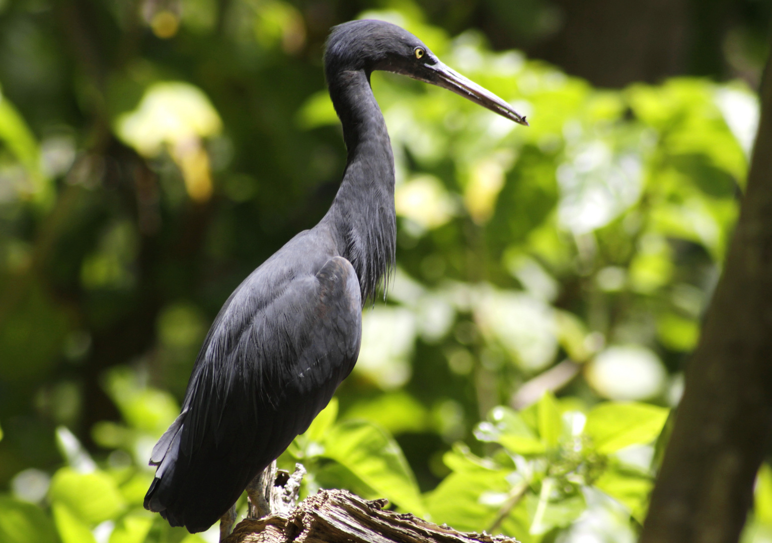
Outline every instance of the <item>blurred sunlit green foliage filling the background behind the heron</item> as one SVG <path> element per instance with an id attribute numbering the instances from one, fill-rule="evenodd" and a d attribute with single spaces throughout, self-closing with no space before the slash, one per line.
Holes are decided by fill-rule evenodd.
<path id="1" fill-rule="evenodd" d="M 216 538 L 144 511 L 147 458 L 222 302 L 318 221 L 344 166 L 295 6 L 143 5 L 0 3 L 20 44 L 0 47 L 0 541 Z M 345 487 L 462 530 L 632 541 L 757 98 L 691 78 L 595 89 L 395 5 L 363 16 L 531 126 L 373 75 L 398 270 L 354 373 L 280 463 L 306 466 L 306 494 Z M 764 541 L 768 467 L 753 518 Z"/>

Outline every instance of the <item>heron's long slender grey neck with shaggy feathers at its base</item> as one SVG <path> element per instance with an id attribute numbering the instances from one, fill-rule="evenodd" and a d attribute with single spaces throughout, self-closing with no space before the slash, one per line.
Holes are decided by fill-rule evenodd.
<path id="1" fill-rule="evenodd" d="M 343 124 L 348 160 L 330 211 L 340 255 L 357 271 L 364 304 L 394 265 L 394 156 L 386 123 L 364 70 L 328 75 L 330 98 Z"/>

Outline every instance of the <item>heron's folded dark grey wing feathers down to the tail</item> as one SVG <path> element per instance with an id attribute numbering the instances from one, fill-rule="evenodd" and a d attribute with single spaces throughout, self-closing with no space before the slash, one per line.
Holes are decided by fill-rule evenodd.
<path id="1" fill-rule="evenodd" d="M 359 352 L 361 290 L 349 261 L 294 274 L 267 303 L 250 298 L 266 291 L 249 282 L 256 275 L 218 315 L 183 413 L 151 457 L 161 465 L 145 507 L 190 531 L 213 524 L 307 429 Z"/>

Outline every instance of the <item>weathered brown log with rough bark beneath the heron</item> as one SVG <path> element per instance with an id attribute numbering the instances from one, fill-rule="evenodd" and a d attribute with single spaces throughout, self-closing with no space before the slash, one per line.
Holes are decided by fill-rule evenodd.
<path id="1" fill-rule="evenodd" d="M 245 519 L 225 543 L 517 543 L 503 535 L 462 533 L 412 514 L 385 511 L 347 491 L 319 491 L 288 514 Z"/>

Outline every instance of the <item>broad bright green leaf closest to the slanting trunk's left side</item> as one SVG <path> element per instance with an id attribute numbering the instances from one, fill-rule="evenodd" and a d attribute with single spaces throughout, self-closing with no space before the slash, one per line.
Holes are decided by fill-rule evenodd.
<path id="1" fill-rule="evenodd" d="M 587 414 L 584 431 L 600 453 L 615 453 L 629 445 L 651 443 L 668 418 L 665 407 L 648 403 L 604 402 Z"/>

